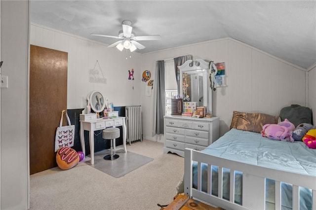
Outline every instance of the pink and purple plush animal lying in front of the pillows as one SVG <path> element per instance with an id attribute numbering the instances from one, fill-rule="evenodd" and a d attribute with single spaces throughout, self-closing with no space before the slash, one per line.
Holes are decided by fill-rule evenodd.
<path id="1" fill-rule="evenodd" d="M 272 140 L 294 141 L 289 128 L 278 124 L 265 124 L 261 135 Z"/>

